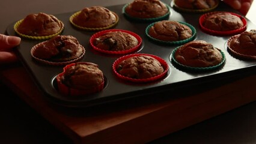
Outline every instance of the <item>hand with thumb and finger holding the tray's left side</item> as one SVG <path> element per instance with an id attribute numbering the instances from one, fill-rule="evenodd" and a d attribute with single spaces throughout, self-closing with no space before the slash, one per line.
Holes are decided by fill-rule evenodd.
<path id="1" fill-rule="evenodd" d="M 0 64 L 7 64 L 17 61 L 17 56 L 12 48 L 20 44 L 20 38 L 0 34 Z"/>

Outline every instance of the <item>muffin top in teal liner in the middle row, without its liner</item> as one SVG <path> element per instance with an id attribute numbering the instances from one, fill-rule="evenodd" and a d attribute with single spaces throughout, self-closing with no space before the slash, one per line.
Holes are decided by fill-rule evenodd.
<path id="1" fill-rule="evenodd" d="M 192 37 L 192 30 L 179 22 L 162 20 L 151 26 L 148 35 L 157 40 L 180 41 Z"/>

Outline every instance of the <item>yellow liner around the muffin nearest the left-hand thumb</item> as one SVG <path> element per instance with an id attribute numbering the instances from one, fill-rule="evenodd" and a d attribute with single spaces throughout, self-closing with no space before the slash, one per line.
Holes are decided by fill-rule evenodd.
<path id="1" fill-rule="evenodd" d="M 23 38 L 28 38 L 28 39 L 32 39 L 32 40 L 47 40 L 49 38 L 52 38 L 52 37 L 55 37 L 56 35 L 59 35 L 61 34 L 61 32 L 63 31 L 64 29 L 64 24 L 63 22 L 61 22 L 59 20 L 59 22 L 61 23 L 61 29 L 56 33 L 56 34 L 53 34 L 53 35 L 46 35 L 46 36 L 31 36 L 31 35 L 25 35 L 25 34 L 21 34 L 19 31 L 17 31 L 17 28 L 19 27 L 20 23 L 22 23 L 23 19 L 22 20 L 19 20 L 17 21 L 13 28 L 14 28 L 14 31 L 16 32 L 16 34 L 20 35 L 20 37 L 23 37 Z"/>

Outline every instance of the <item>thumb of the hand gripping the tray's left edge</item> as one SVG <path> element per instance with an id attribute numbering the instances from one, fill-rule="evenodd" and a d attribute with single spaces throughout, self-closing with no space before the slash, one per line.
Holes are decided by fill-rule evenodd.
<path id="1" fill-rule="evenodd" d="M 10 49 L 20 44 L 20 37 L 0 34 L 0 50 Z"/>

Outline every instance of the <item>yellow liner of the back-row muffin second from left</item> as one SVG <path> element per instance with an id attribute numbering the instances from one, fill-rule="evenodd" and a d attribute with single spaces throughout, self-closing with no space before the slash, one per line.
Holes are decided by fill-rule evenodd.
<path id="1" fill-rule="evenodd" d="M 118 21 L 119 21 L 119 17 L 117 16 L 116 13 L 112 12 L 115 17 L 117 18 L 117 20 L 115 21 L 115 23 L 113 23 L 112 25 L 109 25 L 109 26 L 106 26 L 106 27 L 102 27 L 102 28 L 87 28 L 87 27 L 83 27 L 83 26 L 79 26 L 79 25 L 76 25 L 74 22 L 73 22 L 73 19 L 74 17 L 78 16 L 78 14 L 81 13 L 81 11 L 78 11 L 74 14 L 72 14 L 72 16 L 70 16 L 69 18 L 69 21 L 70 23 L 72 23 L 73 26 L 75 26 L 76 28 L 78 29 L 82 29 L 82 30 L 85 30 L 85 31 L 103 31 L 105 29 L 110 29 L 110 28 L 113 28 L 114 26 L 117 25 Z"/>

